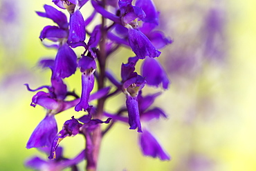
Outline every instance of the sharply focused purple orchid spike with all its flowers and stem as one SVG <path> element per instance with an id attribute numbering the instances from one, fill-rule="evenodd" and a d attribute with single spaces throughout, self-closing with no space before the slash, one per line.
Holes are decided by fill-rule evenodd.
<path id="1" fill-rule="evenodd" d="M 94 10 L 84 19 L 80 9 L 89 0 L 53 0 L 56 8 L 67 10 L 70 14 L 69 21 L 66 14 L 53 6 L 44 5 L 45 12 L 37 12 L 40 17 L 51 19 L 56 26 L 46 26 L 42 29 L 39 38 L 44 46 L 55 48 L 55 59 L 42 59 L 39 66 L 51 69 L 51 86 L 41 86 L 35 90 L 26 84 L 29 91 L 37 93 L 33 96 L 32 105 L 41 105 L 46 109 L 46 117 L 37 125 L 31 135 L 26 148 L 39 148 L 49 154 L 45 161 L 34 157 L 26 162 L 30 168 L 62 170 L 66 167 L 75 168 L 82 159 L 86 160 L 86 169 L 95 170 L 97 166 L 98 149 L 102 136 L 113 126 L 121 121 L 129 124 L 129 129 L 139 132 L 139 145 L 145 156 L 158 157 L 161 160 L 170 160 L 170 155 L 163 150 L 156 138 L 144 128 L 152 119 L 166 118 L 167 115 L 161 108 L 151 107 L 156 97 L 161 92 L 143 94 L 145 86 L 167 89 L 170 81 L 156 57 L 161 52 L 158 49 L 172 43 L 163 32 L 155 30 L 158 26 L 158 11 L 152 0 L 137 0 L 134 5 L 132 0 L 98 1 L 91 0 Z M 107 7 L 111 6 L 112 11 Z M 95 14 L 102 15 L 102 23 L 93 28 L 92 32 L 86 27 L 93 21 Z M 109 26 L 106 20 L 111 23 Z M 138 23 L 141 23 L 138 26 Z M 86 34 L 89 39 L 86 39 Z M 49 43 L 51 42 L 51 43 Z M 80 57 L 73 48 L 82 46 L 84 52 Z M 116 79 L 106 66 L 107 59 L 120 46 L 131 48 L 135 57 L 129 57 L 127 63 L 122 63 L 120 68 L 121 80 Z M 141 75 L 135 72 L 136 63 L 143 60 Z M 98 66 L 98 68 L 97 68 Z M 81 95 L 68 91 L 64 78 L 71 77 L 77 68 L 80 69 L 82 78 Z M 113 86 L 105 86 L 109 80 Z M 94 82 L 97 81 L 98 89 L 91 94 Z M 42 91 L 42 90 L 47 91 Z M 116 113 L 109 113 L 104 109 L 104 101 L 109 97 L 123 92 L 126 102 Z M 73 100 L 67 100 L 73 97 Z M 90 105 L 93 100 L 98 100 L 98 105 Z M 77 112 L 84 112 L 80 118 L 71 117 L 57 131 L 55 114 L 68 108 L 75 108 Z M 125 113 L 128 116 L 125 116 Z M 103 117 L 106 118 L 102 121 Z M 105 130 L 101 130 L 100 123 L 107 123 Z M 100 133 L 98 130 L 100 129 Z M 66 137 L 83 134 L 86 139 L 86 149 L 74 159 L 62 157 L 62 148 L 58 147 L 60 141 Z M 98 138 L 97 138 L 98 137 Z M 100 137 L 100 138 L 99 138 Z M 98 139 L 98 140 L 97 140 Z"/>

